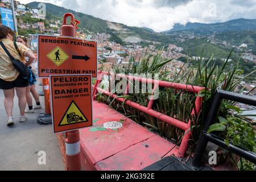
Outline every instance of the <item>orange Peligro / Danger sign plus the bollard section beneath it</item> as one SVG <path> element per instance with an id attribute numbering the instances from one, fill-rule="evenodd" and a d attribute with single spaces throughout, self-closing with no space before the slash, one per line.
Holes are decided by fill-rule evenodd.
<path id="1" fill-rule="evenodd" d="M 54 133 L 68 131 L 65 140 L 67 170 L 80 171 L 79 129 L 92 126 L 92 76 L 51 75 Z"/>

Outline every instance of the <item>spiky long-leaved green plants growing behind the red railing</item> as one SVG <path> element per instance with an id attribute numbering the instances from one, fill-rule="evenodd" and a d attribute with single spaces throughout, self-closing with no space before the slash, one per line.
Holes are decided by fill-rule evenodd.
<path id="1" fill-rule="evenodd" d="M 129 75 L 131 73 L 160 73 L 159 80 L 203 86 L 205 88 L 197 95 L 185 91 L 177 92 L 171 88 L 162 88 L 159 90 L 159 98 L 154 101 L 153 105 L 155 110 L 170 115 L 171 117 L 180 119 L 184 122 L 188 122 L 189 119 L 192 121 L 192 139 L 189 141 L 189 151 L 193 152 L 198 142 L 201 129 L 204 126 L 203 122 L 205 121 L 209 108 L 212 105 L 216 89 L 228 90 L 231 92 L 242 92 L 243 88 L 237 90 L 240 82 L 250 74 L 253 74 L 250 73 L 249 75 L 242 77 L 243 72 L 238 69 L 239 61 L 237 65 L 228 64 L 229 57 L 231 55 L 232 52 L 230 52 L 222 67 L 218 67 L 218 65 L 214 63 L 213 56 L 210 57 L 210 59 L 203 59 L 202 52 L 201 57 L 196 60 L 187 58 L 187 62 L 184 63 L 180 69 L 176 69 L 175 72 L 169 72 L 167 71 L 167 64 L 173 61 L 173 59 L 163 59 L 162 52 L 160 51 L 156 55 L 148 55 L 146 53 L 138 62 L 136 62 L 134 57 L 132 57 L 127 65 L 114 65 L 113 71 L 115 73 L 123 73 L 125 75 Z M 108 80 L 110 81 L 109 78 Z M 117 83 L 118 81 L 115 81 L 115 84 Z M 115 90 L 111 91 L 115 92 Z M 125 97 L 127 100 L 137 102 L 144 106 L 148 103 L 148 93 L 129 94 L 128 96 L 118 94 L 118 96 Z M 199 115 L 194 117 L 191 115 L 191 111 L 195 107 L 196 96 L 203 97 L 203 107 Z M 177 129 L 172 125 L 168 125 L 159 119 L 153 118 L 150 115 L 142 113 L 141 111 L 135 110 L 133 107 L 124 105 L 111 97 L 98 94 L 97 98 L 126 116 L 135 115 L 135 117 L 132 118 L 134 121 L 144 125 L 151 131 L 162 135 L 164 138 L 167 138 L 176 144 L 179 144 L 184 136 L 184 131 Z M 219 115 L 222 118 L 227 118 L 230 115 L 229 106 L 233 106 L 233 103 L 230 101 L 222 102 L 219 112 Z"/>

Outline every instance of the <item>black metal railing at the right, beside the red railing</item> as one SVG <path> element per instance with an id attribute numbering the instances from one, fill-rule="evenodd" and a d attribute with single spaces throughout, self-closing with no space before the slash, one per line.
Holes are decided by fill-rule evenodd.
<path id="1" fill-rule="evenodd" d="M 256 97 L 237 94 L 234 92 L 227 92 L 224 90 L 217 90 L 216 96 L 214 97 L 213 100 L 213 105 L 210 108 L 207 121 L 205 122 L 204 130 L 200 135 L 199 143 L 197 144 L 196 147 L 195 158 L 192 161 L 193 165 L 196 167 L 199 167 L 203 164 L 202 160 L 204 152 L 209 141 L 256 164 L 256 154 L 254 152 L 250 152 L 243 148 L 236 147 L 233 144 L 229 144 L 229 146 L 227 146 L 222 138 L 207 132 L 209 126 L 213 125 L 217 117 L 218 110 L 220 109 L 221 101 L 223 99 L 256 106 Z"/>

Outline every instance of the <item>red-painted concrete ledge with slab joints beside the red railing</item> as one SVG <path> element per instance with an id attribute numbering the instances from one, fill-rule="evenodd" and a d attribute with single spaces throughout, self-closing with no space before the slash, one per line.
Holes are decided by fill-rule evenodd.
<path id="1" fill-rule="evenodd" d="M 104 103 L 93 101 L 93 119 L 98 121 L 92 127 L 80 130 L 81 166 L 84 170 L 137 171 L 158 162 L 167 153 L 177 155 L 179 150 L 173 143 Z M 117 130 L 103 127 L 106 122 L 120 122 L 122 119 L 123 126 Z"/>

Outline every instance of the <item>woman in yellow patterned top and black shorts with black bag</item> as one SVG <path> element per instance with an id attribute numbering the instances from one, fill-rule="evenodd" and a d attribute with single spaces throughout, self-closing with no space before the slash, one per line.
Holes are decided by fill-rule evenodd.
<path id="1" fill-rule="evenodd" d="M 20 53 L 28 57 L 28 61 L 23 60 L 14 46 L 14 32 L 7 26 L 0 26 L 0 89 L 5 96 L 5 110 L 7 114 L 7 126 L 14 125 L 13 105 L 15 90 L 19 101 L 20 117 L 19 122 L 27 121 L 25 116 L 26 109 L 26 87 L 28 80 L 27 66 L 34 60 L 32 51 L 23 44 L 16 43 Z"/>

